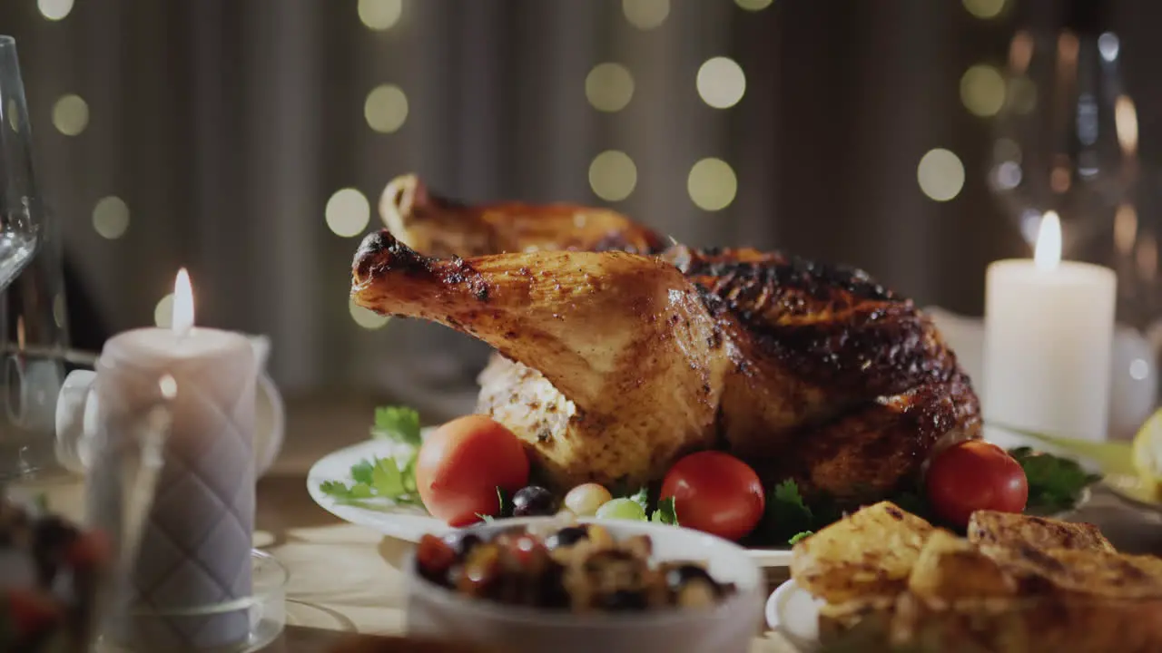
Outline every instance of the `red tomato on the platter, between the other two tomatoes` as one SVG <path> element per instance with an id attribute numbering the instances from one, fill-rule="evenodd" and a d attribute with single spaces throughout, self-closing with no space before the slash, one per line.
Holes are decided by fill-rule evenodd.
<path id="1" fill-rule="evenodd" d="M 674 497 L 680 525 L 731 540 L 753 531 L 766 505 L 754 469 L 720 451 L 691 453 L 675 462 L 660 496 Z"/>

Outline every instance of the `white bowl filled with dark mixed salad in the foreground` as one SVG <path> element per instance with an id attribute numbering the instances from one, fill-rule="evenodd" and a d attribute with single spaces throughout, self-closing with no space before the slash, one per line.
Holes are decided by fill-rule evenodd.
<path id="1" fill-rule="evenodd" d="M 746 550 L 622 519 L 514 518 L 425 536 L 409 634 L 514 653 L 743 653 L 766 584 Z"/>

